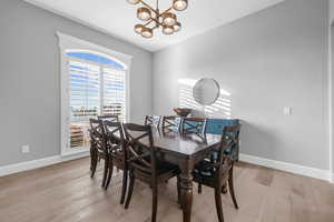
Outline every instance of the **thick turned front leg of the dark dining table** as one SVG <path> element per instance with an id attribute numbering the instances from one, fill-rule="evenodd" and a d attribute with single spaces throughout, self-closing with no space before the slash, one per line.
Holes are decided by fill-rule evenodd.
<path id="1" fill-rule="evenodd" d="M 180 165 L 180 191 L 181 191 L 181 209 L 184 213 L 184 222 L 191 221 L 193 206 L 193 168 L 188 164 Z"/>

